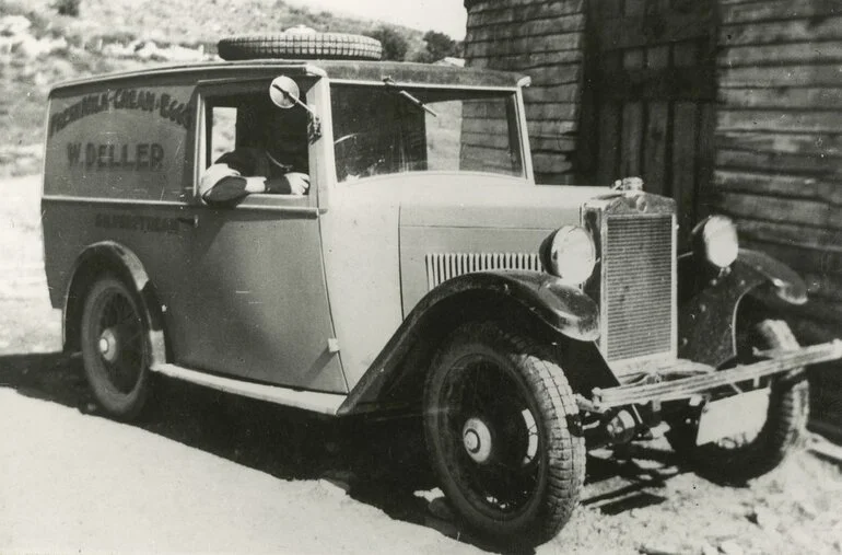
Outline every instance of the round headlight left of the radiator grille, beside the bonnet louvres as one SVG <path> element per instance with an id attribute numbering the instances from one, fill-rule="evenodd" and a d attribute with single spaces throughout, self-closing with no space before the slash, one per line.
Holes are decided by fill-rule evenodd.
<path id="1" fill-rule="evenodd" d="M 565 282 L 583 284 L 596 265 L 594 240 L 578 226 L 564 226 L 541 243 L 541 262 L 547 271 Z"/>

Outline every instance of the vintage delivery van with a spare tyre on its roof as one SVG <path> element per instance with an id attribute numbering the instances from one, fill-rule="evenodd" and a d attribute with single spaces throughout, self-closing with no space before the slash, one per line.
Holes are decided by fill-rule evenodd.
<path id="1" fill-rule="evenodd" d="M 700 471 L 775 467 L 805 425 L 803 368 L 842 356 L 763 302 L 804 302 L 800 278 L 723 217 L 679 253 L 674 201 L 640 180 L 536 186 L 527 78 L 378 48 L 239 37 L 226 61 L 52 89 L 46 271 L 104 409 L 137 416 L 166 374 L 414 415 L 465 524 L 531 543 L 569 519 L 587 448 L 660 423 Z M 305 194 L 202 196 L 223 153 L 273 160 L 260 128 L 293 120 Z"/>

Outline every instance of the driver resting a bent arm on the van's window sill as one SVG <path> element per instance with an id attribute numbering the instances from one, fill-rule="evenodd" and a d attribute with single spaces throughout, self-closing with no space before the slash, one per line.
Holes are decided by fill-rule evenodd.
<path id="1" fill-rule="evenodd" d="M 222 154 L 199 180 L 209 205 L 230 205 L 250 193 L 306 195 L 307 113 L 300 106 L 243 106 L 237 116 L 237 148 Z M 241 140 L 242 139 L 242 140 Z"/>

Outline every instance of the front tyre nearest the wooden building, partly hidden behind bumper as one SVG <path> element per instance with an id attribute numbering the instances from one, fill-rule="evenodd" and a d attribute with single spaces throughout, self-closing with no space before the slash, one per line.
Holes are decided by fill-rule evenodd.
<path id="1" fill-rule="evenodd" d="M 798 340 L 786 322 L 763 320 L 740 334 L 741 360 L 750 360 L 752 348 L 794 349 Z M 674 424 L 667 439 L 699 474 L 726 484 L 745 484 L 777 467 L 799 444 L 809 414 L 809 385 L 800 369 L 771 379 L 767 420 L 751 436 L 724 438 L 695 446 L 698 419 Z"/>

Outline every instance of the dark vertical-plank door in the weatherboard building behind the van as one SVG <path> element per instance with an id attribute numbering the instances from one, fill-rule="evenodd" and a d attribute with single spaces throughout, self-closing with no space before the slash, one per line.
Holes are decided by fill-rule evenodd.
<path id="1" fill-rule="evenodd" d="M 716 102 L 715 0 L 588 0 L 578 164 L 597 184 L 642 176 L 706 215 Z"/>

